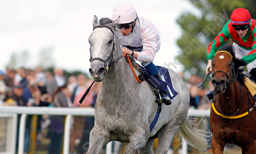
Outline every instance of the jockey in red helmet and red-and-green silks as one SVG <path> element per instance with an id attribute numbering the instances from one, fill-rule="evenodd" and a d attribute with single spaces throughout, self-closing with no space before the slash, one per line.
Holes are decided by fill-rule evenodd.
<path id="1" fill-rule="evenodd" d="M 241 58 L 248 63 L 247 70 L 253 76 L 254 80 L 256 80 L 255 26 L 256 20 L 251 19 L 251 15 L 247 9 L 235 9 L 231 14 L 230 20 L 224 25 L 222 31 L 208 46 L 208 65 L 206 67 L 206 74 L 209 71 L 212 71 L 212 59 L 215 55 L 215 52 L 221 48 L 226 43 L 226 41 L 229 40 L 229 38 L 231 38 L 233 41 L 233 46 L 235 47 L 236 58 Z M 209 94 L 207 94 L 207 97 L 208 96 Z"/>

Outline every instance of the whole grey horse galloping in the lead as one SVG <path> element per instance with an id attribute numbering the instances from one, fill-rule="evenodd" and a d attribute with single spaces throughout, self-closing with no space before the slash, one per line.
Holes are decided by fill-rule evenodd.
<path id="1" fill-rule="evenodd" d="M 114 22 L 109 21 L 108 18 L 102 18 L 98 23 L 98 18 L 94 16 L 93 27 L 109 27 L 97 27 L 89 37 L 91 59 L 96 58 L 91 61 L 89 72 L 94 81 L 102 81 L 102 87 L 95 104 L 95 124 L 90 132 L 87 154 L 99 153 L 103 146 L 113 140 L 128 143 L 125 154 L 134 154 L 136 150 L 143 154 L 153 154 L 153 142 L 157 137 L 156 154 L 166 154 L 176 132 L 189 145 L 205 150 L 208 146 L 206 132 L 195 127 L 193 120 L 187 117 L 190 100 L 187 85 L 171 70 L 171 80 L 179 94 L 172 99 L 171 105 L 162 104 L 162 112 L 150 132 L 149 126 L 158 108 L 155 93 L 147 82 L 136 81 L 125 58 L 107 68 L 108 62 L 123 54 L 112 31 L 119 18 Z M 110 58 L 111 54 L 113 58 Z M 136 69 L 135 72 L 139 74 Z"/>

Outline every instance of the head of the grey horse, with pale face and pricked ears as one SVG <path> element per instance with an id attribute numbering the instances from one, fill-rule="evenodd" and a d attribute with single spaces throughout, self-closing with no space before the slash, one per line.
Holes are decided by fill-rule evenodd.
<path id="1" fill-rule="evenodd" d="M 100 20 L 94 16 L 93 27 L 94 30 L 89 37 L 90 52 L 91 52 L 91 67 L 89 69 L 91 77 L 96 82 L 103 80 L 105 71 L 108 70 L 108 64 L 112 62 L 112 54 L 115 48 L 114 41 L 114 28 L 119 22 L 119 18 L 115 21 L 111 21 L 108 18 L 102 18 L 105 21 Z M 98 25 L 106 25 L 108 27 L 97 27 Z M 97 28 L 95 28 L 95 26 Z"/>

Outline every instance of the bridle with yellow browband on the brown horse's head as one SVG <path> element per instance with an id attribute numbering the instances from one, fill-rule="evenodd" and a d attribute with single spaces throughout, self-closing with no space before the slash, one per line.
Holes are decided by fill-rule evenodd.
<path id="1" fill-rule="evenodd" d="M 228 54 L 231 56 L 231 59 L 233 59 L 233 58 L 232 58 L 232 55 L 231 55 L 229 52 L 227 52 L 227 51 L 218 51 L 218 52 L 215 53 L 215 55 L 216 55 L 217 53 L 219 53 L 219 52 L 226 52 L 226 53 L 228 53 Z M 214 55 L 214 56 L 215 56 L 215 55 Z M 233 62 L 233 60 L 232 60 L 232 68 L 231 68 L 231 71 L 229 72 L 229 75 L 228 75 L 227 73 L 223 72 L 223 71 L 215 71 L 215 72 L 212 74 L 212 79 L 213 79 L 213 77 L 216 75 L 216 73 L 218 73 L 218 72 L 221 72 L 225 79 L 226 79 L 226 76 L 227 76 L 227 78 L 228 78 L 227 81 L 226 81 L 226 83 L 225 83 L 225 86 L 224 86 L 224 88 L 223 88 L 223 90 L 222 90 L 222 93 L 224 93 L 225 90 L 228 89 L 228 87 L 230 86 L 230 84 L 236 80 L 237 75 L 238 75 L 238 74 L 236 74 L 236 77 L 235 77 L 235 68 L 234 68 L 234 62 Z M 232 72 L 234 72 L 234 75 L 233 75 L 232 79 L 229 79 L 230 76 L 231 76 L 231 74 L 232 74 Z M 238 73 L 238 68 L 237 68 L 237 73 Z M 225 75 L 226 75 L 226 76 L 225 76 Z M 230 81 L 231 81 L 231 83 L 227 86 L 228 82 L 230 82 Z"/>

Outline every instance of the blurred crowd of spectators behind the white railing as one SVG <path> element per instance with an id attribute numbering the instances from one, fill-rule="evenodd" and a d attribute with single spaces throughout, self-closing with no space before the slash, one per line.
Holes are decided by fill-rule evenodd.
<path id="1" fill-rule="evenodd" d="M 82 104 L 80 98 L 91 85 L 92 80 L 86 75 L 72 75 L 66 78 L 61 68 L 53 72 L 43 71 L 40 67 L 31 70 L 26 68 L 6 68 L 0 70 L 0 105 L 4 106 L 36 106 L 36 107 L 94 107 L 101 82 L 96 82 L 91 87 Z M 41 135 L 42 128 L 48 128 L 48 153 L 61 153 L 63 140 L 64 116 L 37 116 L 37 135 Z M 30 129 L 32 115 L 27 116 L 24 152 L 29 153 Z M 19 136 L 19 121 L 17 124 L 17 142 Z M 80 151 L 84 153 L 83 144 L 89 142 L 89 133 L 94 126 L 94 117 L 74 116 L 70 135 L 70 153 Z M 75 141 L 83 137 L 84 143 L 75 147 Z"/>

